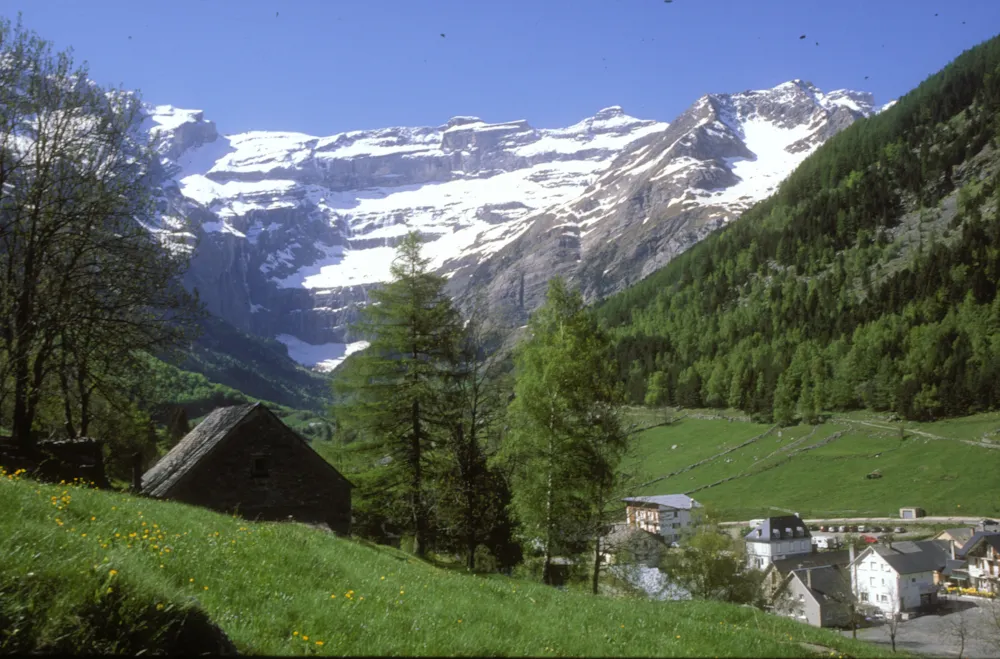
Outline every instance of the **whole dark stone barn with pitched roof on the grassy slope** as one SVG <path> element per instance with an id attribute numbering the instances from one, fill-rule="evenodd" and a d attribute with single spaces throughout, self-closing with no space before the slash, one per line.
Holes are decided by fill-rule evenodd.
<path id="1" fill-rule="evenodd" d="M 350 532 L 351 488 L 260 403 L 216 409 L 142 476 L 142 494 Z"/>

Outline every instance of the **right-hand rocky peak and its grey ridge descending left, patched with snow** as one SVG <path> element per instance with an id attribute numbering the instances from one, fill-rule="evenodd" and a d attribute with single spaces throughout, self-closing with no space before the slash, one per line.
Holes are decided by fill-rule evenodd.
<path id="1" fill-rule="evenodd" d="M 523 323 L 562 274 L 593 300 L 635 283 L 732 221 L 826 139 L 876 112 L 871 94 L 824 94 L 793 80 L 709 94 L 667 130 L 633 143 L 579 197 L 511 225 L 518 240 L 463 259 L 456 295 L 484 288 L 494 312 Z"/>

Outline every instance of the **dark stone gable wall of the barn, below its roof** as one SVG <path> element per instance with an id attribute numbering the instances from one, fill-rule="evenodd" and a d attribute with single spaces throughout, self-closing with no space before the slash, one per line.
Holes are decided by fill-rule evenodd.
<path id="1" fill-rule="evenodd" d="M 292 518 L 350 532 L 351 486 L 319 454 L 269 415 L 250 419 L 234 432 L 168 498 L 246 519 Z M 267 476 L 252 474 L 257 457 L 267 460 Z"/>

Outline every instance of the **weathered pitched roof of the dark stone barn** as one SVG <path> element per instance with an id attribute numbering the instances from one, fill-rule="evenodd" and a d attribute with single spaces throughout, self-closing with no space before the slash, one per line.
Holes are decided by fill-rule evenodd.
<path id="1" fill-rule="evenodd" d="M 171 488 L 188 474 L 195 465 L 223 443 L 234 430 L 256 414 L 268 414 L 275 421 L 307 447 L 309 442 L 302 439 L 261 403 L 220 407 L 212 411 L 191 432 L 184 436 L 169 453 L 142 476 L 142 493 L 152 497 L 164 497 Z M 312 447 L 309 447 L 312 450 Z M 340 478 L 347 481 L 333 465 L 316 454 L 317 459 L 326 464 Z M 347 481 L 351 484 L 350 481 Z M 353 484 L 352 484 L 353 485 Z"/>

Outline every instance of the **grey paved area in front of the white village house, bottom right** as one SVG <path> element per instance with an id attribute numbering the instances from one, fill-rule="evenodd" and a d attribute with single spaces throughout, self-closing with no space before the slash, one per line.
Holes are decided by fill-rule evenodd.
<path id="1" fill-rule="evenodd" d="M 949 601 L 937 613 L 919 616 L 899 623 L 896 649 L 932 657 L 956 657 L 962 647 L 959 631 L 965 628 L 965 648 L 962 657 L 989 659 L 1000 656 L 1000 629 L 990 623 L 986 606 L 971 598 Z M 850 635 L 851 632 L 843 632 Z M 877 645 L 891 647 L 885 625 L 858 630 L 858 638 Z"/>

